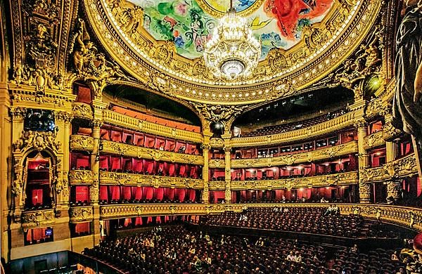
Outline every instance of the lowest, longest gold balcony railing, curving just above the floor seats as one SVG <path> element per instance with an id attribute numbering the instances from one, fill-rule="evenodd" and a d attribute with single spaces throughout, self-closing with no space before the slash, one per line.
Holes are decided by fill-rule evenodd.
<path id="1" fill-rule="evenodd" d="M 260 203 L 260 204 L 113 204 L 100 207 L 100 218 L 128 218 L 136 216 L 205 215 L 224 211 L 240 212 L 248 207 L 322 207 L 320 203 Z M 340 214 L 356 214 L 399 226 L 422 231 L 422 209 L 386 204 L 337 204 Z"/>

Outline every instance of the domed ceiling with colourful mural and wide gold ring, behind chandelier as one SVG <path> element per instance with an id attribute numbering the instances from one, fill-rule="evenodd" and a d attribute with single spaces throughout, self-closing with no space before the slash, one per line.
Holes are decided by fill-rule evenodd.
<path id="1" fill-rule="evenodd" d="M 88 4 L 89 2 L 89 4 Z M 262 54 L 248 79 L 216 79 L 205 43 L 229 0 L 84 1 L 110 56 L 139 81 L 198 103 L 250 104 L 300 93 L 354 51 L 380 11 L 368 0 L 235 0 Z"/>

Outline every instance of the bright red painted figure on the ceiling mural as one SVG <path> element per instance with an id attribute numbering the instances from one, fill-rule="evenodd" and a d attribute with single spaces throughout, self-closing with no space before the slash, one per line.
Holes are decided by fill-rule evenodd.
<path id="1" fill-rule="evenodd" d="M 332 4 L 332 0 L 267 0 L 264 11 L 278 20 L 283 37 L 295 40 L 302 27 L 311 25 L 310 20 L 326 13 Z"/>

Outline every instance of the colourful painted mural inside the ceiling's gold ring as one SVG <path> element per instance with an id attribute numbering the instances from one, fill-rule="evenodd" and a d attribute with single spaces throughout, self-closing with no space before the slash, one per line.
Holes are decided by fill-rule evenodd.
<path id="1" fill-rule="evenodd" d="M 229 8 L 221 0 L 129 0 L 143 8 L 143 27 L 156 40 L 174 41 L 177 53 L 189 59 L 203 55 L 218 18 Z M 257 39 L 261 60 L 271 48 L 288 50 L 302 39 L 302 28 L 321 22 L 334 0 L 235 0 Z M 212 11 L 213 15 L 207 13 Z"/>

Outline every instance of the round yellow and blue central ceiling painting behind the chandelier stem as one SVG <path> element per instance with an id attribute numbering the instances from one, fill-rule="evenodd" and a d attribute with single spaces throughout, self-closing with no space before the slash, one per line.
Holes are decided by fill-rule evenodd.
<path id="1" fill-rule="evenodd" d="M 230 8 L 230 0 L 196 0 L 198 6 L 214 17 L 222 17 Z M 234 0 L 238 15 L 247 16 L 256 11 L 265 0 Z"/>

